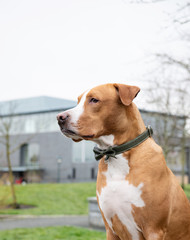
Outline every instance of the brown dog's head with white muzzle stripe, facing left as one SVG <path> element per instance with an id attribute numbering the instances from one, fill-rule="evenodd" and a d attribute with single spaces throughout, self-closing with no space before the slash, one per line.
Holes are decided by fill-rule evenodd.
<path id="1" fill-rule="evenodd" d="M 78 97 L 78 105 L 58 114 L 64 135 L 74 141 L 95 140 L 122 133 L 126 128 L 127 109 L 140 89 L 124 84 L 105 84 Z"/>

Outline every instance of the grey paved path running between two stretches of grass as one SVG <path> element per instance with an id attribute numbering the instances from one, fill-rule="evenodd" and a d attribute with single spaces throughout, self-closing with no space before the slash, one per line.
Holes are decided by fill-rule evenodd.
<path id="1" fill-rule="evenodd" d="M 0 216 L 0 230 L 52 226 L 78 226 L 90 228 L 88 216 Z"/>

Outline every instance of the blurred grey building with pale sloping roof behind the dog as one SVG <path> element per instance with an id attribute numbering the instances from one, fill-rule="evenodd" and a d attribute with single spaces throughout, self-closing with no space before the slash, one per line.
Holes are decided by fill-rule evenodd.
<path id="1" fill-rule="evenodd" d="M 93 142 L 73 142 L 63 136 L 57 124 L 57 113 L 76 106 L 76 102 L 53 97 L 34 97 L 0 102 L 1 124 L 10 123 L 11 162 L 15 179 L 28 182 L 67 182 L 96 179 L 98 162 L 93 155 Z M 141 110 L 145 124 L 152 125 L 155 138 L 158 119 L 164 114 Z M 178 124 L 184 118 L 177 117 Z M 161 124 L 162 125 L 162 124 Z M 161 126 L 159 127 L 159 131 Z M 180 131 L 173 136 L 180 141 Z M 0 141 L 0 176 L 8 172 L 5 146 Z M 175 140 L 176 141 L 176 140 Z M 180 171 L 178 149 L 173 150 L 173 171 Z M 186 153 L 186 172 L 189 172 L 190 154 Z"/>

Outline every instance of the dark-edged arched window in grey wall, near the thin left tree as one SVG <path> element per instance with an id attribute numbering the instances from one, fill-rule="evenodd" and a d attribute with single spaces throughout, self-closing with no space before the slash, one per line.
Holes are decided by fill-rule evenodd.
<path id="1" fill-rule="evenodd" d="M 39 165 L 39 146 L 38 144 L 23 144 L 20 148 L 20 166 Z"/>

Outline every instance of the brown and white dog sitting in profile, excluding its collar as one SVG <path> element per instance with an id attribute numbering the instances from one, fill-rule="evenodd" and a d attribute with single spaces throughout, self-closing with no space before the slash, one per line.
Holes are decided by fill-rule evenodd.
<path id="1" fill-rule="evenodd" d="M 146 128 L 132 102 L 140 89 L 124 84 L 95 87 L 57 116 L 74 141 L 99 148 L 128 142 Z M 152 138 L 99 162 L 97 200 L 108 240 L 190 240 L 190 204 Z"/>

